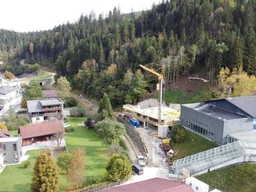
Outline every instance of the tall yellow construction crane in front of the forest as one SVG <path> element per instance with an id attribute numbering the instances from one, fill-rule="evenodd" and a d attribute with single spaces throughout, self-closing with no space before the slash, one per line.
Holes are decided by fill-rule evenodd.
<path id="1" fill-rule="evenodd" d="M 163 81 L 164 81 L 164 70 L 165 70 L 165 66 L 161 65 L 161 67 L 159 68 L 159 70 L 161 71 L 156 72 L 156 70 L 154 70 L 154 68 L 152 67 L 152 65 L 150 65 L 150 68 L 144 65 L 140 65 L 141 68 L 143 68 L 144 70 L 147 70 L 148 72 L 154 74 L 155 76 L 157 76 L 158 78 L 158 86 L 159 86 L 159 95 L 158 95 L 158 123 L 162 122 L 162 118 L 161 118 L 161 106 L 162 106 L 162 97 L 163 97 Z"/>

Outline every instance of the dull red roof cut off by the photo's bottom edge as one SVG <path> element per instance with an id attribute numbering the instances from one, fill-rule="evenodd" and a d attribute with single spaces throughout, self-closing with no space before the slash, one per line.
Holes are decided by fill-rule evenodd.
<path id="1" fill-rule="evenodd" d="M 193 189 L 184 182 L 154 178 L 143 180 L 140 182 L 134 182 L 122 186 L 116 186 L 103 190 L 104 192 L 193 192 Z"/>

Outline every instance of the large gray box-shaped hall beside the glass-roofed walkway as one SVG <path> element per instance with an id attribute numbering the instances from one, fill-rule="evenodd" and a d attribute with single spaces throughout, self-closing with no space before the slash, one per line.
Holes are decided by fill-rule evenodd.
<path id="1" fill-rule="evenodd" d="M 228 134 L 256 129 L 256 96 L 182 104 L 180 124 L 219 145 Z"/>

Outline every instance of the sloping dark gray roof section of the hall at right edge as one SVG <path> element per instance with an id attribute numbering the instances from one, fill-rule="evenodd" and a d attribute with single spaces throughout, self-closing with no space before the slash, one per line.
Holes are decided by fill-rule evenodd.
<path id="1" fill-rule="evenodd" d="M 228 102 L 237 106 L 245 113 L 252 117 L 256 117 L 256 95 L 247 97 L 232 97 L 226 99 Z"/>

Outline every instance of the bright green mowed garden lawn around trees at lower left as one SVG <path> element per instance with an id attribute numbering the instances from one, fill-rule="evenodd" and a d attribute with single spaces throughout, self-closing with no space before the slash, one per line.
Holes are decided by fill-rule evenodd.
<path id="1" fill-rule="evenodd" d="M 75 148 L 81 147 L 86 156 L 86 168 L 84 170 L 84 185 L 90 184 L 90 177 L 102 175 L 105 172 L 108 163 L 108 145 L 103 143 L 102 138 L 93 130 L 85 127 L 77 127 L 77 124 L 83 123 L 85 118 L 70 118 L 70 124 L 74 127 L 73 132 L 66 132 L 66 143 L 69 152 Z M 31 150 L 28 152 L 31 166 L 23 168 L 23 164 L 6 166 L 0 174 L 0 191 L 30 191 L 30 182 L 33 175 L 33 166 L 36 157 L 43 150 Z M 64 172 L 60 175 L 60 191 L 65 191 L 72 186 L 67 181 Z"/>

